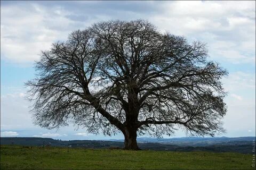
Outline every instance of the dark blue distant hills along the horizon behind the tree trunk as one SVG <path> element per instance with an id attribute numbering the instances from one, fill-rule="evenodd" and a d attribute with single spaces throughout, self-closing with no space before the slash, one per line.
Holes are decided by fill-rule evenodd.
<path id="1" fill-rule="evenodd" d="M 253 154 L 253 140 L 255 137 L 185 137 L 185 138 L 137 138 L 141 149 L 168 151 L 213 151 L 213 152 L 241 152 Z M 123 140 L 54 140 L 51 138 L 2 138 L 1 145 L 23 146 L 55 146 L 82 148 L 123 148 Z M 255 154 L 255 152 L 254 152 Z"/>

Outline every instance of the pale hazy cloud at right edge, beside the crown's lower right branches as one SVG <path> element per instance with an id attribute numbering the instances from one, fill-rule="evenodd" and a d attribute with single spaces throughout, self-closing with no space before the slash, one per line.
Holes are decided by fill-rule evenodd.
<path id="1" fill-rule="evenodd" d="M 223 126 L 227 134 L 247 135 L 244 132 L 255 127 L 255 73 L 234 72 L 223 83 L 228 91 L 225 98 L 228 112 Z"/>

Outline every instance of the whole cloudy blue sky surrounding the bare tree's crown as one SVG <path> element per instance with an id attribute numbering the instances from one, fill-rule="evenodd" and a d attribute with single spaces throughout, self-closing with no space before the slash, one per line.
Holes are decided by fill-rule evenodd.
<path id="1" fill-rule="evenodd" d="M 1 1 L 1 137 L 123 139 L 73 125 L 40 128 L 24 98 L 24 83 L 35 78 L 41 50 L 66 40 L 71 31 L 117 19 L 145 19 L 161 32 L 207 43 L 210 60 L 229 72 L 222 79 L 228 92 L 226 133 L 218 136 L 255 136 L 255 1 Z"/>

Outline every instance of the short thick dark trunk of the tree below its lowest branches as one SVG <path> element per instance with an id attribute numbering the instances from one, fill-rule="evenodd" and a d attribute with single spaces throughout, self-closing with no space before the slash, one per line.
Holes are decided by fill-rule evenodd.
<path id="1" fill-rule="evenodd" d="M 136 128 L 125 128 L 124 149 L 140 150 L 140 148 L 137 145 L 137 129 Z"/>

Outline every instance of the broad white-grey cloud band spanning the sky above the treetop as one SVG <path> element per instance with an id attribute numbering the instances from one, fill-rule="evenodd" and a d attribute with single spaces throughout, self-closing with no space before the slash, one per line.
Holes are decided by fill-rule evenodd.
<path id="1" fill-rule="evenodd" d="M 255 62 L 254 1 L 145 2 L 148 8 L 145 11 L 138 9 L 140 3 L 116 3 L 112 6 L 105 2 L 70 4 L 72 7 L 65 3 L 47 6 L 39 2 L 2 5 L 2 58 L 13 62 L 33 62 L 41 50 L 49 49 L 54 41 L 66 39 L 73 30 L 84 29 L 97 21 L 142 18 L 153 22 L 160 30 L 205 41 L 210 49 L 214 46 L 211 53 L 219 58 L 225 57 L 228 62 Z M 108 10 L 103 8 L 104 5 Z M 91 11 L 93 6 L 97 10 Z M 91 17 L 93 14 L 94 18 Z M 220 41 L 222 43 L 216 46 Z M 220 49 L 222 45 L 226 48 Z M 245 56 L 245 51 L 249 51 L 250 56 Z"/>

